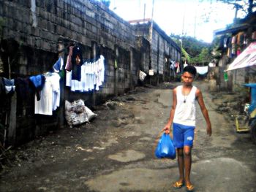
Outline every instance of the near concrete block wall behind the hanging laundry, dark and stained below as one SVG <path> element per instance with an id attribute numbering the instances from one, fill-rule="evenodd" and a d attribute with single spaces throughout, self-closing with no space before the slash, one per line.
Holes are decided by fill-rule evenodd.
<path id="1" fill-rule="evenodd" d="M 48 72 L 59 57 L 59 46 L 66 47 L 60 53 L 65 63 L 68 45 L 74 42 L 82 48 L 83 58 L 94 58 L 102 54 L 106 59 L 105 82 L 99 91 L 73 93 L 64 87 L 64 80 L 61 82 L 64 88 L 62 110 L 60 108 L 53 116 L 43 116 L 41 120 L 42 115 L 33 114 L 32 93 L 28 97 L 30 100 L 23 101 L 22 105 L 17 98 L 16 117 L 10 117 L 10 120 L 15 119 L 17 122 L 15 141 L 10 141 L 10 145 L 26 142 L 47 133 L 49 128 L 59 127 L 57 123 L 60 116 L 64 115 L 65 99 L 83 99 L 91 107 L 137 85 L 140 50 L 135 29 L 99 1 L 0 0 L 0 18 L 4 20 L 2 39 L 6 45 L 1 52 L 0 64 L 4 66 L 1 77 L 9 75 L 8 59 L 15 61 L 10 67 L 12 78 Z M 118 60 L 118 69 L 114 68 L 115 59 Z"/>

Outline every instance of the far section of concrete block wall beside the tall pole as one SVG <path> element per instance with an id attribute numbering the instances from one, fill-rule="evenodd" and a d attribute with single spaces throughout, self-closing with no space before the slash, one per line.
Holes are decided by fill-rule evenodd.
<path id="1" fill-rule="evenodd" d="M 159 28 L 157 23 L 153 23 L 152 39 L 150 38 L 151 22 L 135 24 L 134 26 L 137 37 L 147 39 L 149 44 L 149 50 L 143 49 L 142 51 L 140 69 L 148 74 L 148 69 L 151 67 L 154 70 L 154 76 L 150 77 L 150 82 L 157 84 L 157 82 L 164 80 L 164 74 L 170 75 L 169 69 L 165 66 L 165 58 L 181 61 L 181 48 Z M 140 42 L 138 46 L 142 45 L 146 45 L 146 43 Z M 167 77 L 166 80 L 168 79 L 170 78 Z M 146 77 L 146 80 L 148 80 L 148 77 Z"/>

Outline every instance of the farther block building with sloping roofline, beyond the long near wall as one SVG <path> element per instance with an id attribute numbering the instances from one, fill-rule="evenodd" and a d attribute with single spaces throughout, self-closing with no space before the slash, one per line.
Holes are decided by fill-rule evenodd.
<path id="1" fill-rule="evenodd" d="M 157 85 L 159 82 L 174 80 L 176 72 L 171 70 L 170 65 L 173 61 L 181 66 L 181 47 L 150 19 L 132 20 L 129 23 L 135 26 L 139 47 L 149 43 L 149 50 L 142 51 L 140 68 L 146 73 L 150 69 L 154 71 L 156 75 L 151 77 L 151 83 Z"/>

